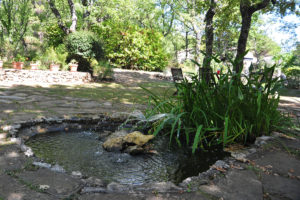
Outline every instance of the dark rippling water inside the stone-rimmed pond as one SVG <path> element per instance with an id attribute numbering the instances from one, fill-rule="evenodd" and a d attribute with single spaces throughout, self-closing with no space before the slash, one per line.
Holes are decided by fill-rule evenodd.
<path id="1" fill-rule="evenodd" d="M 107 152 L 103 141 L 93 131 L 61 131 L 41 134 L 26 142 L 35 155 L 44 162 L 59 164 L 67 172 L 80 171 L 106 183 L 142 185 L 150 182 L 172 181 L 179 183 L 198 175 L 215 161 L 223 159 L 220 151 L 190 155 L 190 151 L 169 148 L 167 138 L 153 141 L 158 154 L 131 156 L 127 153 Z"/>

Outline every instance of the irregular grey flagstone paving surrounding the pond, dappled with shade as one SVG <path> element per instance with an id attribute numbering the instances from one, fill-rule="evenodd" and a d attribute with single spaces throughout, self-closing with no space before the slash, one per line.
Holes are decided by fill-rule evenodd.
<path id="1" fill-rule="evenodd" d="M 296 117 L 299 116 L 299 108 L 300 98 L 284 97 L 281 102 L 281 109 Z M 71 98 L 67 94 L 49 95 L 30 86 L 0 84 L 2 128 L 18 121 L 44 117 L 113 115 L 132 110 L 132 105 L 127 104 Z M 0 199 L 300 199 L 299 133 L 292 137 L 274 133 L 273 137 L 263 139 L 261 145 L 255 148 L 236 150 L 232 154 L 235 161 L 229 166 L 215 167 L 218 173 L 211 174 L 209 179 L 198 177 L 187 180 L 185 190 L 170 192 L 167 187 L 159 186 L 153 187 L 152 191 L 129 193 L 120 192 L 117 186 L 111 192 L 84 193 L 82 189 L 87 182 L 33 166 L 32 160 L 7 139 L 6 134 L 0 129 Z"/>

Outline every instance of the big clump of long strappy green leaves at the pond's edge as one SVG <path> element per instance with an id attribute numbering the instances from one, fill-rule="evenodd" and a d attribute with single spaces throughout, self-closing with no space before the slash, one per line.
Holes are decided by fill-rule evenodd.
<path id="1" fill-rule="evenodd" d="M 286 122 L 277 110 L 280 81 L 272 79 L 274 68 L 242 78 L 229 70 L 215 85 L 194 76 L 177 85 L 178 95 L 173 98 L 152 93 L 147 117 L 160 116 L 152 125 L 153 134 L 168 133 L 170 142 L 191 145 L 193 152 L 198 147 L 254 142 L 270 134 Z"/>

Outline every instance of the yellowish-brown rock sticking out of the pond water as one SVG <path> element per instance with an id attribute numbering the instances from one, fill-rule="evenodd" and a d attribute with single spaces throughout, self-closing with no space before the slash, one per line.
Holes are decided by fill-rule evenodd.
<path id="1" fill-rule="evenodd" d="M 144 135 L 139 131 L 134 131 L 125 136 L 112 137 L 112 134 L 103 144 L 106 151 L 122 151 L 137 154 L 142 152 L 142 146 L 154 138 L 154 135 Z"/>

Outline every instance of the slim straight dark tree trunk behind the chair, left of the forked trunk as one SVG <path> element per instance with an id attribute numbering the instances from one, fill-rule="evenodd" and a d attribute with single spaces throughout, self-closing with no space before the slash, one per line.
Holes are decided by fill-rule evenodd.
<path id="1" fill-rule="evenodd" d="M 211 64 L 211 58 L 212 58 L 212 50 L 213 50 L 213 42 L 214 42 L 214 27 L 213 27 L 213 18 L 215 15 L 215 1 L 211 0 L 209 9 L 205 15 L 205 57 L 203 59 L 203 70 L 202 72 L 206 72 L 205 74 L 202 73 L 202 78 L 205 78 L 206 82 L 209 82 L 210 74 L 210 64 Z M 200 69 L 199 69 L 200 70 Z M 199 71 L 199 74 L 201 72 Z M 200 77 L 199 77 L 200 78 Z"/>

